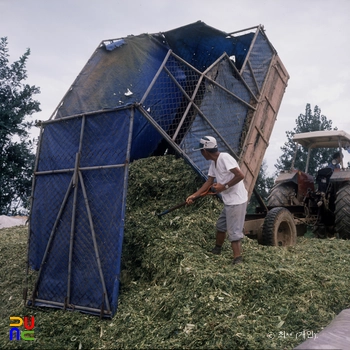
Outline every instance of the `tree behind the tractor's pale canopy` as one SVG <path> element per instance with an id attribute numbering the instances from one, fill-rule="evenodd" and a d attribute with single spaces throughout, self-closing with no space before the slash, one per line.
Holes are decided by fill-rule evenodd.
<path id="1" fill-rule="evenodd" d="M 318 106 L 315 106 L 314 113 L 312 114 L 310 104 L 306 105 L 305 114 L 300 114 L 295 122 L 296 127 L 294 130 L 286 131 L 288 141 L 281 147 L 283 153 L 277 160 L 277 164 L 275 164 L 277 173 L 282 170 L 289 170 L 292 166 L 296 149 L 296 143 L 293 141 L 294 134 L 308 131 L 332 130 L 332 121 L 327 120 L 327 117 L 321 114 L 321 109 Z M 334 130 L 337 130 L 337 128 L 334 128 Z M 307 152 L 308 150 L 306 148 L 299 147 L 294 163 L 295 169 L 305 171 Z M 315 176 L 318 169 L 329 163 L 334 152 L 335 150 L 331 148 L 312 149 L 308 173 Z"/>

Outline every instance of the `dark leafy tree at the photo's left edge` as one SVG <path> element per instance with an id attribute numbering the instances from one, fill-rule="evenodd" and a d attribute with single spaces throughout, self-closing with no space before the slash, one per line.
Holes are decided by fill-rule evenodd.
<path id="1" fill-rule="evenodd" d="M 7 38 L 0 38 L 0 214 L 13 215 L 30 196 L 35 156 L 28 117 L 40 111 L 33 99 L 40 90 L 23 83 L 30 50 L 10 64 L 7 46 Z"/>

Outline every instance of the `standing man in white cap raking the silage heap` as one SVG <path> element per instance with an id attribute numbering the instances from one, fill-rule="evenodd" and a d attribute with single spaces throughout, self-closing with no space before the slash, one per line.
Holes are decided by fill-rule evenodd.
<path id="1" fill-rule="evenodd" d="M 216 223 L 216 245 L 212 253 L 221 254 L 227 233 L 233 251 L 233 264 L 239 264 L 242 262 L 241 240 L 248 201 L 248 193 L 242 181 L 244 174 L 231 155 L 218 151 L 216 139 L 212 136 L 201 138 L 199 148 L 194 150 L 201 151 L 203 157 L 210 161 L 210 167 L 208 180 L 197 192 L 189 196 L 186 202 L 192 204 L 194 197 L 210 187 L 221 193 L 224 209 Z"/>

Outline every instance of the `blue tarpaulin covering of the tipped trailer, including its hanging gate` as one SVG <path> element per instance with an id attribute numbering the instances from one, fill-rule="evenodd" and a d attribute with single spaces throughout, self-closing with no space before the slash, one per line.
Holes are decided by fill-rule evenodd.
<path id="1" fill-rule="evenodd" d="M 204 178 L 204 135 L 239 156 L 276 51 L 261 26 L 196 22 L 102 41 L 47 122 L 33 182 L 29 305 L 117 310 L 128 165 L 169 149 Z"/>

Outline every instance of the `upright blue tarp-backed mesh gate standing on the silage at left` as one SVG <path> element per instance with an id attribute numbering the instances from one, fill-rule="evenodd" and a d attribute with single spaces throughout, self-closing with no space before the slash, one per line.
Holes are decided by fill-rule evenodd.
<path id="1" fill-rule="evenodd" d="M 30 219 L 30 305 L 115 312 L 131 111 L 45 125 Z"/>

